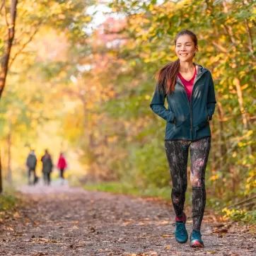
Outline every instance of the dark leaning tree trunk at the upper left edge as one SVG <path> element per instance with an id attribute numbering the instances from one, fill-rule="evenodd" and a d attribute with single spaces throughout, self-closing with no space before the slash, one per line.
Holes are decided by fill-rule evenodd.
<path id="1" fill-rule="evenodd" d="M 6 25 L 8 27 L 7 39 L 4 48 L 4 54 L 1 59 L 1 71 L 0 71 L 0 98 L 1 94 L 4 91 L 4 86 L 6 83 L 6 76 L 8 73 L 8 62 L 11 54 L 11 46 L 13 45 L 13 38 L 15 32 L 15 22 L 16 22 L 16 13 L 17 13 L 17 4 L 18 0 L 11 1 L 11 23 L 8 23 L 7 13 L 6 13 Z"/>

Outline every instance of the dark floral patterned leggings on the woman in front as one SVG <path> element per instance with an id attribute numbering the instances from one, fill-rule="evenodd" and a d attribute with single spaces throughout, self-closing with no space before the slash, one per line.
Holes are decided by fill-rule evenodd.
<path id="1" fill-rule="evenodd" d="M 182 218 L 187 190 L 187 158 L 190 149 L 193 229 L 200 230 L 206 202 L 205 170 L 211 149 L 211 137 L 198 141 L 165 141 L 165 152 L 173 180 L 172 202 L 175 214 Z"/>

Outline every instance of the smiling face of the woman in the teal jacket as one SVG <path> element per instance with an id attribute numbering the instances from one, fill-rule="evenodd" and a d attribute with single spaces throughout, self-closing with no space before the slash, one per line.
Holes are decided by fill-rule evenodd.
<path id="1" fill-rule="evenodd" d="M 194 45 L 194 42 L 189 35 L 181 35 L 178 37 L 175 45 L 175 52 L 181 62 L 192 62 L 197 50 L 197 46 Z"/>

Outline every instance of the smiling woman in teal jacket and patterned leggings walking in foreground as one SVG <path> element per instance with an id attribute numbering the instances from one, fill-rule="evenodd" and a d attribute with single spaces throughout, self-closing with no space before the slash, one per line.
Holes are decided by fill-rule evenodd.
<path id="1" fill-rule="evenodd" d="M 156 74 L 156 90 L 151 109 L 166 121 L 165 152 L 173 180 L 171 198 L 175 210 L 175 238 L 186 243 L 188 234 L 183 211 L 187 190 L 187 158 L 190 150 L 193 231 L 190 246 L 203 248 L 200 232 L 206 192 L 204 177 L 211 148 L 209 121 L 216 104 L 211 73 L 193 62 L 198 51 L 197 36 L 182 30 L 175 37 L 178 59 Z M 165 108 L 165 98 L 168 108 Z"/>

